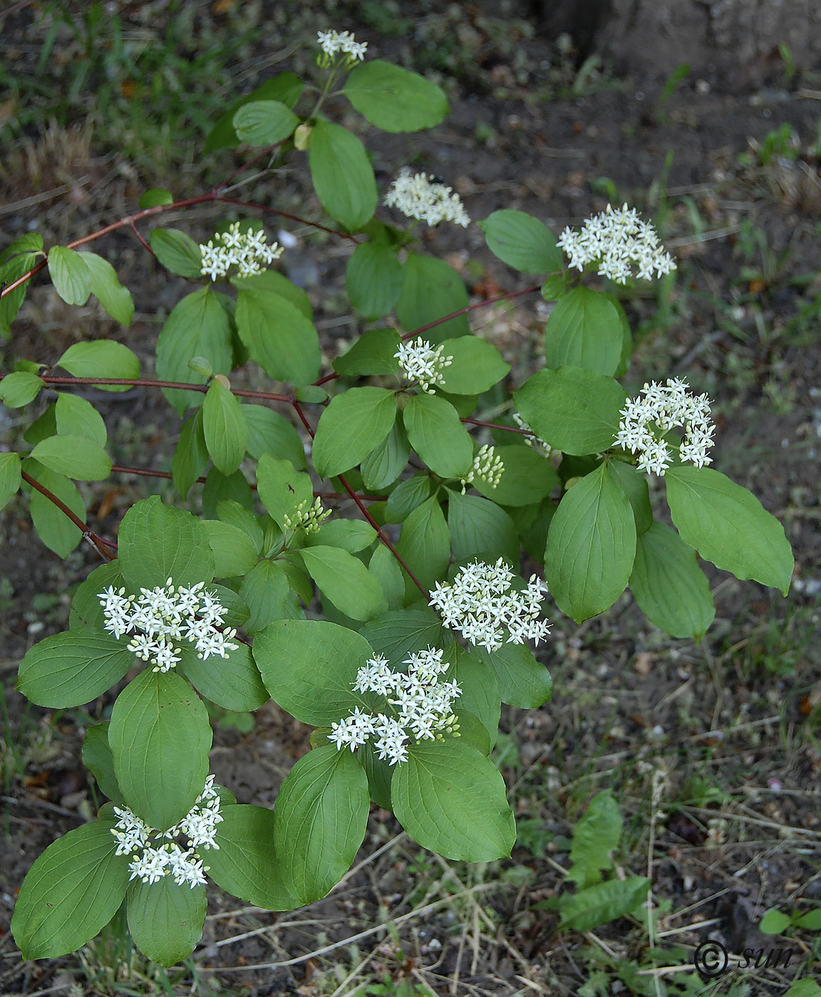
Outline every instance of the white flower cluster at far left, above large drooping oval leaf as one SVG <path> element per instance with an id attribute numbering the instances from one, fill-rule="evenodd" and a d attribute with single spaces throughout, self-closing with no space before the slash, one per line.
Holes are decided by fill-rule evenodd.
<path id="1" fill-rule="evenodd" d="M 105 629 L 118 640 L 132 630 L 142 631 L 134 634 L 129 650 L 151 662 L 153 671 L 167 672 L 180 661 L 176 640 L 194 644 L 197 657 L 203 661 L 211 654 L 224 658 L 227 651 L 239 646 L 230 643 L 236 630 L 218 629 L 225 609 L 212 592 L 205 591 L 205 582 L 175 588 L 169 578 L 165 586 L 151 591 L 142 588 L 140 592 L 138 596 L 126 595 L 125 588 L 115 591 L 109 585 L 97 594 L 106 617 Z"/>

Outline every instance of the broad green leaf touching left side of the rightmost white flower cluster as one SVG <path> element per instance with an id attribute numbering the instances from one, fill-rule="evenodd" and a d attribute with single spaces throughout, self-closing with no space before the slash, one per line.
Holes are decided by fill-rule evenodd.
<path id="1" fill-rule="evenodd" d="M 627 400 L 613 378 L 581 367 L 538 371 L 513 397 L 537 436 L 579 457 L 614 446 Z"/>

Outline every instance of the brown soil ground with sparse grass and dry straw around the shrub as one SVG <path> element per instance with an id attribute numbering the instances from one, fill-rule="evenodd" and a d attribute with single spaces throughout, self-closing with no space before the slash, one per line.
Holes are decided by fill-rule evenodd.
<path id="1" fill-rule="evenodd" d="M 393 10 L 362 5 L 371 12 L 377 6 Z M 581 84 L 577 76 L 574 91 L 575 71 L 562 83 L 572 54 L 563 63 L 555 40 L 528 27 L 521 12 L 500 25 L 473 10 L 403 4 L 404 35 L 380 40 L 375 15 L 368 20 L 358 5 L 321 17 L 303 11 L 293 23 L 308 41 L 316 25 L 352 27 L 358 38 L 374 40 L 375 54 L 411 68 L 421 64 L 446 81 L 453 113 L 438 129 L 367 140 L 376 150 L 378 178 L 413 162 L 445 176 L 474 218 L 518 207 L 557 232 L 608 200 L 655 215 L 679 270 L 674 285 L 626 302 L 637 330 L 628 388 L 650 377 L 684 375 L 709 392 L 719 422 L 714 466 L 784 521 L 796 583 L 784 599 L 710 570 L 717 615 L 699 645 L 661 634 L 627 596 L 581 627 L 557 619 L 555 640 L 544 652 L 554 676 L 553 703 L 503 716 L 504 771 L 523 828 L 510 861 L 470 866 L 420 853 L 391 815 L 374 809 L 353 869 L 309 908 L 271 914 L 214 888 L 193 964 L 164 985 L 110 939 L 79 957 L 25 964 L 8 933 L 26 869 L 46 844 L 93 814 L 97 800 L 79 763 L 80 745 L 85 725 L 103 718 L 113 702 L 104 697 L 88 712 L 55 713 L 28 706 L 13 691 L 20 657 L 64 626 L 67 593 L 96 562 L 84 548 L 59 560 L 30 530 L 25 502 L 12 504 L 3 513 L 0 548 L 5 992 L 57 993 L 75 985 L 77 993 L 159 993 L 167 986 L 180 994 L 310 997 L 393 994 L 403 992 L 396 989 L 402 985 L 413 993 L 411 987 L 425 984 L 442 994 L 582 993 L 595 966 L 588 950 L 612 966 L 619 959 L 638 962 L 647 942 L 646 932 L 625 920 L 598 929 L 598 941 L 590 934 L 560 935 L 557 915 L 534 906 L 560 890 L 567 838 L 593 794 L 606 787 L 615 790 L 624 816 L 618 864 L 627 874 L 652 871 L 659 931 L 666 933 L 659 944 L 689 946 L 689 956 L 708 936 L 739 954 L 785 944 L 758 933 L 763 911 L 807 909 L 821 900 L 818 81 L 776 76 L 755 90 L 729 92 L 685 79 L 668 94 L 641 79 L 594 75 Z M 21 14 L 14 23 L 25 36 L 20 48 L 35 44 L 30 21 Z M 448 51 L 433 60 L 431 50 L 442 48 L 447 32 L 470 58 Z M 297 65 L 308 61 L 306 51 L 292 57 Z M 248 58 L 243 70 L 253 68 L 254 58 L 260 65 L 252 78 L 245 73 L 243 90 L 271 73 L 261 66 L 262 47 Z M 288 66 L 285 60 L 273 71 Z M 338 110 L 347 114 L 341 104 Z M 766 148 L 768 134 L 783 123 L 797 145 L 759 156 L 756 149 Z M 175 180 L 186 186 L 202 178 L 193 154 L 175 176 L 138 175 L 82 130 L 55 127 L 6 152 L 3 244 L 32 224 L 47 244 L 77 237 L 132 208 L 141 189 L 165 183 L 182 194 Z M 223 155 L 218 166 L 227 172 L 232 162 Z M 26 203 L 33 190 L 60 184 L 67 185 L 65 193 Z M 318 218 L 318 205 L 308 200 L 306 206 L 305 190 L 297 173 L 286 173 L 258 181 L 252 193 Z M 207 230 L 204 215 L 191 223 L 195 235 Z M 356 332 L 338 310 L 348 250 L 304 230 L 296 234 L 302 265 L 313 271 L 309 293 L 318 327 L 333 356 L 339 341 Z M 132 328 L 116 327 L 94 306 L 68 309 L 51 288 L 35 287 L 7 360 L 48 360 L 81 336 L 107 335 L 150 360 L 158 323 L 182 282 L 160 273 L 125 235 L 100 245 L 134 294 Z M 472 301 L 526 286 L 488 252 L 476 226 L 467 236 L 433 233 L 430 251 L 460 269 Z M 473 314 L 474 328 L 492 336 L 511 360 L 516 385 L 539 362 L 544 318 L 536 295 Z M 168 437 L 178 422 L 165 402 L 134 392 L 109 403 L 117 463 L 167 469 Z M 3 418 L 4 443 L 14 446 L 17 413 Z M 155 485 L 115 476 L 91 489 L 94 528 L 113 535 L 125 508 L 157 491 Z M 250 733 L 217 726 L 212 771 L 239 802 L 270 805 L 307 750 L 307 736 L 307 728 L 268 704 Z M 802 962 L 809 960 L 807 975 L 817 972 L 815 937 L 798 932 L 789 942 Z M 704 992 L 726 993 L 733 985 L 749 988 L 737 994 L 780 995 L 797 965 L 739 969 Z M 681 992 L 672 989 L 674 974 L 659 979 L 670 993 Z M 599 992 L 639 991 L 620 982 L 585 990 Z"/>

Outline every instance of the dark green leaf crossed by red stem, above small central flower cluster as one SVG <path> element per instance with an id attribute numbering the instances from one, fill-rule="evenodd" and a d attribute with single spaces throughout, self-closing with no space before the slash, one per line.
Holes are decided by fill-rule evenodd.
<path id="1" fill-rule="evenodd" d="M 407 332 L 413 332 L 468 307 L 465 282 L 444 260 L 410 252 L 402 267 L 402 290 L 396 303 L 396 315 Z M 436 346 L 445 339 L 470 335 L 465 315 L 457 315 L 424 332 L 424 338 Z"/>

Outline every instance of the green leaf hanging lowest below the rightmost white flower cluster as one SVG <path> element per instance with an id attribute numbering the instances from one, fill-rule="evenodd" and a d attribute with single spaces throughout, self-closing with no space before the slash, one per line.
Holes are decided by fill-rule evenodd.
<path id="1" fill-rule="evenodd" d="M 662 522 L 638 537 L 629 584 L 647 619 L 671 637 L 700 639 L 715 616 L 695 551 Z"/>

